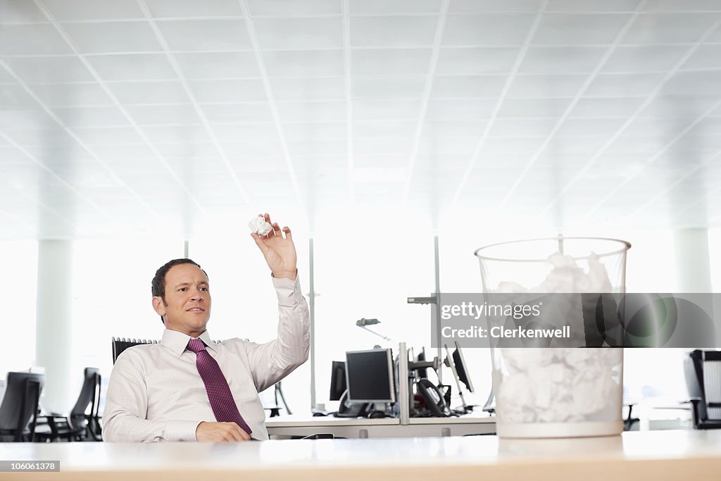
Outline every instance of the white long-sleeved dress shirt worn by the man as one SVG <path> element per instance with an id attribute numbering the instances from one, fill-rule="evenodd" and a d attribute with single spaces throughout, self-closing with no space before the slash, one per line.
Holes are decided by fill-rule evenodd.
<path id="1" fill-rule="evenodd" d="M 308 305 L 298 278 L 273 278 L 273 286 L 280 314 L 277 339 L 256 344 L 235 337 L 214 344 L 208 330 L 200 335 L 255 439 L 268 438 L 258 392 L 304 363 L 310 346 Z M 195 441 L 198 424 L 216 422 L 195 353 L 186 350 L 190 339 L 165 330 L 160 344 L 138 345 L 118 356 L 105 396 L 105 441 Z"/>

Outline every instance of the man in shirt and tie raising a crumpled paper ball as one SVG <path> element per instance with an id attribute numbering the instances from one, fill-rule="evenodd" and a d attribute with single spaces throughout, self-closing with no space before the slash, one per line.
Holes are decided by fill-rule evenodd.
<path id="1" fill-rule="evenodd" d="M 103 415 L 105 441 L 267 439 L 258 392 L 308 359 L 309 315 L 296 270 L 291 229 L 251 234 L 273 274 L 278 338 L 211 342 L 211 292 L 190 259 L 167 262 L 153 280 L 153 308 L 165 325 L 159 344 L 125 350 L 115 361 Z M 242 309 L 239 309 L 242 318 Z"/>

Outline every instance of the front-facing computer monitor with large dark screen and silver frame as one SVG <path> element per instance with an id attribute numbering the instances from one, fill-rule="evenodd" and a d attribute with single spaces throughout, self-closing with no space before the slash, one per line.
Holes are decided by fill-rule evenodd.
<path id="1" fill-rule="evenodd" d="M 345 376 L 351 402 L 395 402 L 393 354 L 390 349 L 345 353 Z"/>

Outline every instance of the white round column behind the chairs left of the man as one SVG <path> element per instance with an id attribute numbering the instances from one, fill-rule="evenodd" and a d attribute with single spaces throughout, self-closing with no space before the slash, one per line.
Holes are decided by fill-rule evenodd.
<path id="1" fill-rule="evenodd" d="M 70 241 L 37 243 L 35 365 L 45 368 L 42 402 L 45 410 L 53 412 L 69 412 L 77 395 L 69 389 L 73 348 L 72 257 Z"/>

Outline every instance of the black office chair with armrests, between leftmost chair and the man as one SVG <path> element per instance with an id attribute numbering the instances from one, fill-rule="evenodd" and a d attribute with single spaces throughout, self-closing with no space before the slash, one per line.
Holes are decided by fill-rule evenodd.
<path id="1" fill-rule="evenodd" d="M 70 415 L 48 414 L 44 418 L 50 432 L 37 433 L 40 441 L 102 441 L 99 401 L 101 376 L 97 368 L 85 368 L 83 386 Z M 86 414 L 88 405 L 90 413 Z"/>

